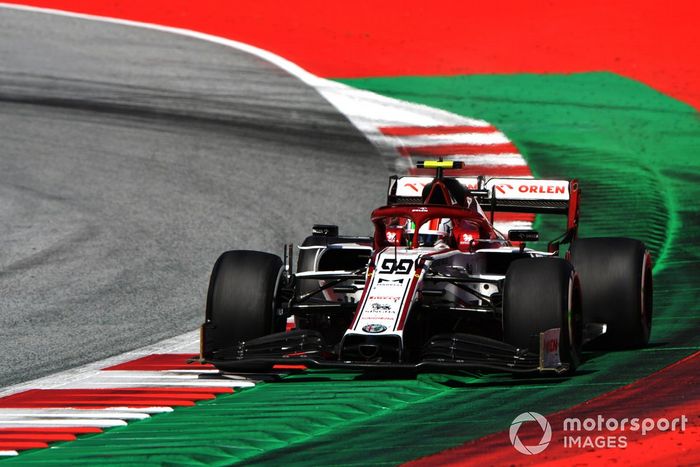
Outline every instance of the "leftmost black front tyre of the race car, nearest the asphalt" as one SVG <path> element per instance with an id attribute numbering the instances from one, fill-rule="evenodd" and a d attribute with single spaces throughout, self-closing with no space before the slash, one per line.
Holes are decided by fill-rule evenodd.
<path id="1" fill-rule="evenodd" d="M 207 294 L 203 354 L 284 331 L 275 316 L 282 277 L 279 256 L 260 251 L 227 251 L 214 264 Z"/>

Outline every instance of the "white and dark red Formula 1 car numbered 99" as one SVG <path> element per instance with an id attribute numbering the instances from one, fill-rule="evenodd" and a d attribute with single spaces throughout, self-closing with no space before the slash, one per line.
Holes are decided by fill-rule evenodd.
<path id="1" fill-rule="evenodd" d="M 284 258 L 223 253 L 201 328 L 201 361 L 229 372 L 304 368 L 573 371 L 584 345 L 647 344 L 651 257 L 628 238 L 577 238 L 576 180 L 393 176 L 372 237 L 315 225 Z M 488 212 L 485 212 L 485 210 Z M 496 213 L 561 214 L 535 251 Z M 562 251 L 562 245 L 570 245 Z M 560 257 L 561 256 L 563 257 Z M 295 328 L 286 330 L 289 317 Z"/>

